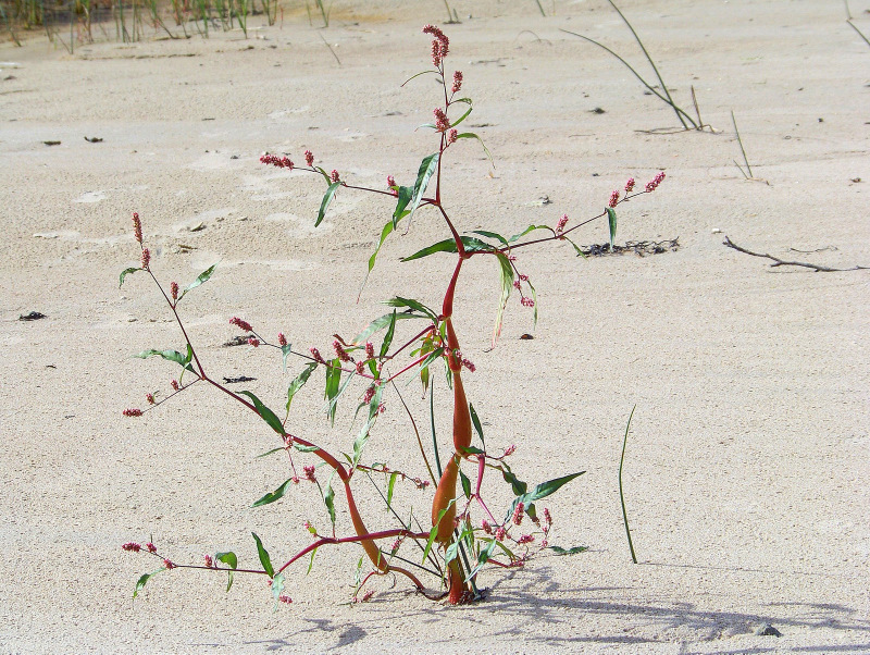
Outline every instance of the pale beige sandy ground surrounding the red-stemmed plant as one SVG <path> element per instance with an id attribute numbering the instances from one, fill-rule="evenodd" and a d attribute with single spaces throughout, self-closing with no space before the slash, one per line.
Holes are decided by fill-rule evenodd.
<path id="1" fill-rule="evenodd" d="M 326 30 L 288 12 L 281 28 L 251 18 L 247 40 L 102 42 L 74 57 L 36 38 L 0 47 L 0 652 L 870 652 L 870 272 L 770 269 L 722 245 L 728 234 L 786 259 L 870 265 L 870 48 L 835 2 L 624 2 L 678 101 L 691 106 L 694 85 L 721 131 L 649 134 L 676 126 L 670 110 L 559 30 L 604 39 L 646 73 L 605 3 L 557 2 L 548 17 L 533 2 L 452 4 L 463 21 L 448 28 L 448 63 L 464 72 L 476 102 L 467 124 L 496 161 L 493 171 L 472 141 L 450 156 L 445 201 L 462 230 L 580 220 L 630 175 L 668 173 L 620 210 L 618 242 L 679 236 L 678 251 L 522 254 L 539 297 L 534 341 L 519 338 L 531 313 L 512 298 L 488 350 L 492 262 L 472 260 L 458 292 L 463 351 L 477 366 L 468 392 L 489 447 L 517 443 L 513 468 L 533 483 L 587 471 L 548 506 L 551 541 L 589 551 L 488 571 L 486 602 L 461 608 L 388 580 L 348 605 L 352 547 L 320 553 L 308 577 L 294 568 L 294 604 L 277 613 L 262 579 L 239 577 L 225 594 L 222 576 L 195 571 L 159 576 L 134 603 L 153 563 L 122 553 L 126 541 L 152 539 L 182 563 L 234 549 L 253 565 L 251 531 L 279 559 L 308 543 L 303 520 L 326 519 L 310 486 L 249 509 L 285 466 L 254 458 L 275 445 L 271 432 L 217 393 L 121 417 L 175 373 L 130 355 L 181 344 L 144 276 L 117 287 L 137 261 L 130 212 L 164 281 L 221 261 L 183 316 L 213 374 L 257 378 L 248 388 L 274 407 L 301 363 L 285 373 L 268 353 L 221 347 L 231 316 L 328 349 L 390 295 L 436 305 L 452 261 L 398 262 L 445 238 L 435 215 L 387 242 L 357 304 L 389 202 L 343 193 L 315 230 L 322 181 L 258 157 L 300 160 L 310 148 L 353 183 L 381 187 L 391 173 L 409 184 L 435 148 L 414 128 L 437 87 L 399 85 L 428 65 L 420 26 L 444 9 L 337 1 Z M 870 33 L 870 4 L 850 5 Z M 731 110 L 769 185 L 734 165 Z M 601 222 L 579 237 L 606 240 Z M 29 311 L 47 318 L 18 320 Z M 352 403 L 330 430 L 321 385 L 295 401 L 294 430 L 349 450 Z M 413 385 L 405 395 L 425 424 L 426 403 Z M 617 489 L 635 404 L 625 487 L 637 566 Z M 395 398 L 369 448 L 422 472 Z M 504 507 L 507 489 L 489 483 Z M 431 490 L 399 492 L 427 512 Z M 389 524 L 374 499 L 362 509 Z M 338 521 L 349 530 L 340 503 Z M 756 635 L 766 622 L 782 637 Z"/>

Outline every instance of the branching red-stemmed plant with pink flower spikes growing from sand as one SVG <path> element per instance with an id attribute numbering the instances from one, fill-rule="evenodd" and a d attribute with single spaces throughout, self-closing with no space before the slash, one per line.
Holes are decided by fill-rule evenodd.
<path id="1" fill-rule="evenodd" d="M 564 474 L 530 489 L 530 485 L 520 480 L 507 462 L 507 458 L 514 452 L 513 445 L 498 455 L 493 455 L 487 449 L 481 421 L 465 394 L 465 376 L 473 373 L 475 367 L 463 355 L 458 332 L 453 325 L 453 297 L 465 261 L 472 257 L 489 257 L 495 260 L 501 276 L 501 296 L 493 332 L 493 342 L 495 343 L 500 331 L 501 314 L 513 289 L 519 292 L 521 304 L 524 307 L 535 307 L 535 289 L 529 277 L 518 269 L 517 251 L 532 244 L 567 242 L 581 254 L 580 248 L 571 239 L 571 233 L 582 225 L 604 217 L 608 218 L 612 245 L 617 227 L 614 208 L 631 198 L 655 190 L 664 177 L 664 173 L 656 175 L 638 191 L 634 190 L 634 178 L 629 180 L 622 188 L 611 194 L 607 207 L 601 213 L 574 225 L 570 225 L 570 220 L 566 214 L 559 218 L 552 227 L 530 225 L 510 237 L 483 230 L 460 234 L 448 209 L 442 201 L 442 168 L 445 165 L 447 156 L 452 153 L 451 149 L 460 140 L 476 139 L 480 141 L 480 137 L 470 132 L 460 133 L 458 129 L 458 126 L 471 113 L 472 101 L 460 96 L 463 83 L 462 73 L 456 71 L 448 75 L 445 71 L 445 58 L 449 53 L 447 37 L 439 28 L 432 25 L 426 25 L 423 32 L 433 37 L 433 65 L 418 75 L 437 75 L 442 83 L 444 97 L 443 103 L 433 112 L 434 123 L 426 125 L 434 132 L 438 140 L 438 149 L 423 159 L 413 184 L 399 185 L 389 175 L 386 189 L 356 186 L 343 178 L 338 171 L 333 170 L 327 173 L 324 168 L 314 165 L 314 156 L 310 151 L 304 152 L 304 165 L 297 166 L 288 157 L 277 155 L 264 155 L 261 161 L 268 165 L 287 170 L 296 169 L 324 177 L 327 188 L 315 224 L 323 220 L 330 203 L 339 190 L 341 193 L 355 190 L 378 194 L 388 199 L 390 203 L 395 202 L 393 215 L 384 225 L 377 248 L 369 260 L 370 272 L 375 264 L 381 246 L 396 230 L 399 222 L 405 219 L 410 220 L 414 212 L 423 208 L 432 208 L 434 211 L 431 211 L 431 215 L 434 220 L 443 222 L 449 236 L 403 258 L 402 261 L 413 261 L 436 252 L 453 255 L 456 263 L 442 298 L 440 309 L 436 311 L 420 300 L 394 297 L 386 301 L 386 305 L 394 308 L 393 311 L 372 321 L 355 338 L 347 341 L 335 335 L 332 344 L 334 354 L 326 357 L 313 347 L 308 353 L 293 349 L 291 344 L 282 333 L 277 335 L 275 343 L 272 343 L 264 335 L 258 333 L 248 321 L 238 317 L 232 318 L 229 323 L 247 335 L 247 341 L 252 347 L 276 348 L 281 351 L 285 366 L 290 355 L 306 361 L 302 371 L 287 388 L 284 418 L 279 418 L 251 392 L 236 393 L 217 382 L 209 374 L 194 347 L 178 313 L 178 306 L 188 292 L 211 277 L 214 267 L 201 273 L 184 289 L 177 283 L 172 282 L 167 292 L 154 275 L 150 251 L 144 245 L 139 217 L 133 214 L 136 242 L 141 248 L 141 261 L 139 267 L 129 268 L 121 274 L 121 284 L 124 283 L 127 275 L 134 272 L 144 271 L 150 275 L 175 317 L 184 338 L 184 347 L 182 350 L 150 349 L 138 355 L 141 358 L 162 357 L 181 366 L 182 371 L 177 380 L 172 380 L 172 391 L 165 397 L 156 399 L 154 394 L 148 394 L 146 396 L 148 405 L 145 409 L 130 408 L 124 410 L 123 413 L 128 417 L 141 417 L 195 384 L 204 383 L 220 390 L 239 405 L 258 415 L 277 434 L 278 446 L 266 455 L 283 453 L 288 459 L 289 478 L 273 492 L 253 503 L 253 506 L 269 505 L 290 492 L 299 493 L 296 491 L 296 485 L 307 482 L 315 485 L 319 490 L 331 522 L 331 529 L 324 534 L 313 523 L 307 521 L 306 528 L 313 541 L 286 558 L 284 564 L 277 568 L 273 565 L 269 552 L 257 534 L 253 534 L 253 539 L 259 553 L 260 567 L 244 569 L 238 567 L 238 558 L 233 552 L 217 553 L 213 556 L 206 555 L 204 563 L 201 565 L 183 565 L 174 563 L 166 555 L 160 553 L 153 544 L 149 543 L 146 546 L 136 543 L 124 544 L 125 551 L 145 552 L 158 558 L 162 565 L 153 573 L 147 573 L 139 579 L 136 593 L 156 573 L 169 569 L 192 568 L 228 572 L 229 584 L 233 582 L 234 573 L 266 576 L 275 602 L 289 603 L 290 598 L 284 594 L 284 576 L 293 564 L 307 557 L 313 561 L 314 553 L 323 546 L 355 544 L 362 548 L 371 566 L 368 576 L 362 576 L 361 569 L 358 571 L 358 582 L 353 592 L 355 601 L 365 601 L 371 597 L 371 591 L 360 595 L 371 576 L 391 572 L 403 576 L 414 588 L 430 597 L 446 595 L 448 602 L 456 605 L 480 597 L 476 578 L 484 566 L 521 567 L 533 553 L 546 547 L 552 548 L 558 554 L 571 554 L 584 549 L 581 546 L 564 549 L 550 545 L 549 536 L 552 526 L 550 512 L 548 509 L 544 509 L 542 519 L 536 508 L 538 500 L 581 475 L 583 471 Z M 480 143 L 483 145 L 482 141 Z M 434 190 L 430 190 L 433 185 Z M 535 312 L 537 312 L 536 307 Z M 397 324 L 400 320 L 415 320 L 422 323 L 423 328 L 413 330 L 411 338 L 395 346 Z M 383 333 L 384 336 L 380 339 L 381 345 L 376 346 L 371 339 L 380 333 Z M 400 356 L 405 358 L 410 356 L 410 361 L 400 362 Z M 410 472 L 394 470 L 383 462 L 366 464 L 363 455 L 377 418 L 385 410 L 387 387 L 391 387 L 397 398 L 405 405 L 393 382 L 400 376 L 415 373 L 420 375 L 424 390 L 428 388 L 431 392 L 430 369 L 437 361 L 444 363 L 448 384 L 452 387 L 452 448 L 448 450 L 446 457 L 442 456 L 442 448 L 439 448 L 434 434 L 433 417 L 435 464 L 433 470 L 415 422 L 409 412 L 425 473 L 413 475 Z M 318 369 L 323 370 L 325 374 L 325 411 L 330 421 L 334 421 L 338 399 L 347 392 L 349 385 L 355 381 L 363 383 L 357 412 L 363 411 L 365 423 L 353 441 L 350 453 L 330 453 L 301 436 L 296 428 L 291 427 L 289 410 L 293 398 Z M 430 396 L 430 407 L 431 411 L 434 411 L 432 396 Z M 480 441 L 478 445 L 472 445 L 475 433 Z M 463 467 L 465 471 L 462 470 Z M 327 475 L 319 473 L 319 468 L 325 468 L 330 473 Z M 500 515 L 501 518 L 498 518 L 484 500 L 482 484 L 487 469 L 497 472 L 497 479 L 507 482 L 515 496 L 510 506 Z M 360 493 L 360 490 L 352 484 L 360 474 L 373 482 L 375 478 L 383 477 L 383 491 L 376 484 L 375 489 L 390 510 L 396 521 L 395 528 L 370 532 L 365 527 L 365 521 L 356 502 L 356 494 Z M 336 478 L 336 484 L 344 495 L 344 502 L 352 523 L 352 531 L 340 536 L 335 512 L 338 500 L 333 489 L 333 481 Z M 401 481 L 410 481 L 420 490 L 425 490 L 430 485 L 430 481 L 434 484 L 435 493 L 432 498 L 430 526 L 424 528 L 415 519 L 414 522 L 411 519 L 405 520 L 395 510 L 394 492 L 396 483 Z M 529 521 L 524 523 L 525 517 L 529 518 Z M 417 548 L 417 555 L 412 552 L 413 548 Z M 362 559 L 360 567 L 361 565 Z M 309 564 L 309 569 L 310 566 Z M 434 576 L 443 585 L 444 591 L 440 594 L 425 591 L 436 584 L 425 585 L 420 580 L 424 573 Z"/>

